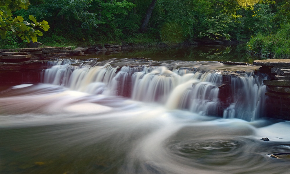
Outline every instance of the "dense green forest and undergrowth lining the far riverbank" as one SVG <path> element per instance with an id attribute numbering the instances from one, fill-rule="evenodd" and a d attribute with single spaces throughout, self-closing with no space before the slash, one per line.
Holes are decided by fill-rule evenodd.
<path id="1" fill-rule="evenodd" d="M 12 21 L 20 16 L 32 21 L 32 28 L 40 28 L 30 35 L 12 26 L 7 31 L 7 1 L 19 0 L 0 2 L 0 48 L 26 47 L 30 39 L 46 46 L 172 45 L 219 39 L 246 41 L 251 55 L 290 58 L 290 0 L 30 0 L 28 8 L 11 8 Z"/>

